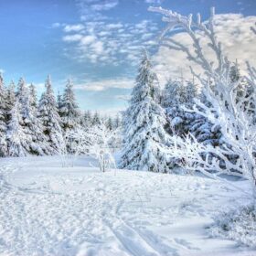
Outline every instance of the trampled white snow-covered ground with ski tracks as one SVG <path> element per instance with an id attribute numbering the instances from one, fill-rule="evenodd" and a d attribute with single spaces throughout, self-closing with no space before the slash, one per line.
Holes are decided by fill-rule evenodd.
<path id="1" fill-rule="evenodd" d="M 50 156 L 6 158 L 0 165 L 14 185 L 0 187 L 0 255 L 256 255 L 208 236 L 212 217 L 248 203 L 219 181 L 100 173 L 82 157 L 73 167 Z"/>

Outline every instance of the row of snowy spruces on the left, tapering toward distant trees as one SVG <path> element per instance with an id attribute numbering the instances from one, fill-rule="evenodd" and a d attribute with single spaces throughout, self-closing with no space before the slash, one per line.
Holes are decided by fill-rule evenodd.
<path id="1" fill-rule="evenodd" d="M 37 101 L 36 87 L 24 79 L 6 87 L 0 75 L 0 156 L 56 155 L 65 144 L 65 133 L 78 127 L 88 129 L 103 123 L 112 130 L 121 118 L 102 117 L 98 112 L 81 112 L 73 84 L 67 81 L 57 100 L 50 78 Z"/>

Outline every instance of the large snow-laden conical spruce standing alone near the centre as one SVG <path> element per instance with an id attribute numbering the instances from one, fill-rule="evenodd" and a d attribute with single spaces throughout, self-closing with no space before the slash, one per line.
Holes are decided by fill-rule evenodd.
<path id="1" fill-rule="evenodd" d="M 155 96 L 155 73 L 146 51 L 123 119 L 124 145 L 120 167 L 167 172 L 165 154 L 159 150 L 167 141 L 165 111 Z"/>

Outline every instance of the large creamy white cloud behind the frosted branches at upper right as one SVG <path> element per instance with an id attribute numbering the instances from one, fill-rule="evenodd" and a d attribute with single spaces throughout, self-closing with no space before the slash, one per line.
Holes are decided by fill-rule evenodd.
<path id="1" fill-rule="evenodd" d="M 249 60 L 251 64 L 256 66 L 255 52 L 255 35 L 251 32 L 251 24 L 256 22 L 256 16 L 241 16 L 239 14 L 217 15 L 215 17 L 215 30 L 219 41 L 222 43 L 223 51 L 228 55 L 230 61 L 238 59 L 240 68 L 245 69 L 245 60 Z M 174 36 L 178 42 L 183 42 L 189 48 L 192 43 L 187 34 L 179 33 Z M 206 47 L 205 38 L 201 38 L 206 56 L 214 60 L 212 51 Z M 183 52 L 160 47 L 154 56 L 155 70 L 162 82 L 169 77 L 177 78 L 183 76 L 191 79 L 189 66 L 193 64 L 193 68 L 198 72 L 202 69 L 189 62 Z"/>

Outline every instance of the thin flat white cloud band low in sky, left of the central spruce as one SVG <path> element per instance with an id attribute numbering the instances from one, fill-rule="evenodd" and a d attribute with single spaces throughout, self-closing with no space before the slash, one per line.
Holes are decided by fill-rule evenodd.
<path id="1" fill-rule="evenodd" d="M 75 85 L 75 89 L 84 91 L 105 91 L 110 88 L 131 89 L 133 88 L 133 85 L 134 80 L 127 78 L 117 78 L 114 80 L 87 81 Z"/>

